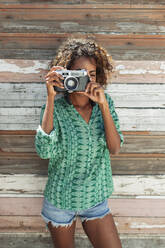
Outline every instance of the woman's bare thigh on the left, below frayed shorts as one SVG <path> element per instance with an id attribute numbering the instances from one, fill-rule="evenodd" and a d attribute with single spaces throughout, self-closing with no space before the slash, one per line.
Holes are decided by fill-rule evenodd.
<path id="1" fill-rule="evenodd" d="M 55 227 L 48 223 L 48 228 L 51 233 L 54 248 L 74 248 L 74 233 L 76 221 L 73 221 L 71 226 L 58 226 Z"/>

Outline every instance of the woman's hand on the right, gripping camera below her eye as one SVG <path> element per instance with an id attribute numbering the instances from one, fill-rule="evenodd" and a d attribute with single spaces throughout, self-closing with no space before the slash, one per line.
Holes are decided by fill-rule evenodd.
<path id="1" fill-rule="evenodd" d="M 100 106 L 107 103 L 104 89 L 96 82 L 88 83 L 84 95 L 88 96 L 92 101 L 97 102 Z"/>

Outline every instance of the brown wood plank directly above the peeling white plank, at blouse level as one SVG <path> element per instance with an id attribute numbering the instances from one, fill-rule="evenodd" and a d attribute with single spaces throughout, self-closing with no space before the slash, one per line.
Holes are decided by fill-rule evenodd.
<path id="1" fill-rule="evenodd" d="M 132 155 L 132 154 L 131 154 Z M 125 157 L 119 155 L 111 158 L 113 175 L 162 175 L 165 174 L 165 156 L 156 154 L 143 157 L 142 154 L 131 156 L 126 154 Z M 32 154 L 25 153 L 6 155 L 0 154 L 0 174 L 37 174 L 47 175 L 48 160 L 40 159 Z"/>

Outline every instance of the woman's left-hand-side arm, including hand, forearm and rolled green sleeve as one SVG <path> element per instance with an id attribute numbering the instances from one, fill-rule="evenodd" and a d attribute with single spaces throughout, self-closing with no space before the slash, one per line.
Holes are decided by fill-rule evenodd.
<path id="1" fill-rule="evenodd" d="M 53 86 L 63 87 L 60 78 L 61 75 L 56 73 L 56 69 L 62 67 L 52 67 L 50 72 L 46 75 L 47 86 L 47 101 L 46 105 L 42 107 L 40 116 L 40 125 L 37 129 L 35 137 L 36 151 L 41 158 L 51 158 L 60 152 L 58 145 L 58 121 L 54 111 L 54 100 L 57 92 Z"/>

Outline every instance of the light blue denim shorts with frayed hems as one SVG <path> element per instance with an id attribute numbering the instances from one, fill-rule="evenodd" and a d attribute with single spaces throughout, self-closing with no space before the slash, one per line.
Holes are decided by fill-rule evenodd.
<path id="1" fill-rule="evenodd" d="M 66 227 L 72 225 L 73 221 L 76 220 L 77 217 L 79 217 L 83 222 L 87 220 L 103 218 L 109 213 L 111 213 L 111 210 L 108 207 L 107 199 L 94 207 L 80 211 L 72 211 L 56 208 L 44 198 L 41 216 L 46 222 L 46 224 L 51 222 L 52 225 L 55 227 Z"/>

